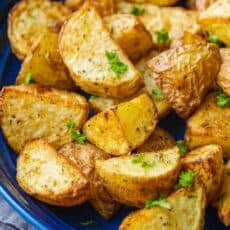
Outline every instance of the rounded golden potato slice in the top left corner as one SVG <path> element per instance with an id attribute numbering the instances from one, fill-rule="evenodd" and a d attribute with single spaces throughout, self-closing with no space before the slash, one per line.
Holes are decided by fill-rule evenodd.
<path id="1" fill-rule="evenodd" d="M 24 0 L 8 16 L 8 37 L 14 54 L 23 60 L 47 30 L 57 31 L 71 11 L 60 2 Z"/>

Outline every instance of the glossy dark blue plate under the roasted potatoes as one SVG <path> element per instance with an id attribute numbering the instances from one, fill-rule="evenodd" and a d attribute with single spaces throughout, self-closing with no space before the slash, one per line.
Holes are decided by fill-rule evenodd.
<path id="1" fill-rule="evenodd" d="M 20 68 L 20 62 L 11 53 L 7 39 L 7 14 L 9 9 L 18 1 L 0 1 L 0 86 L 14 84 Z M 161 125 L 168 129 L 176 139 L 183 138 L 184 123 L 175 114 L 161 122 Z M 57 208 L 45 205 L 27 196 L 18 186 L 15 174 L 16 154 L 7 146 L 5 139 L 0 132 L 0 195 L 29 223 L 37 229 L 118 229 L 122 219 L 132 210 L 124 207 L 117 216 L 110 221 L 103 220 L 88 204 L 75 208 Z M 94 220 L 98 223 L 95 227 L 84 227 L 81 221 Z M 218 220 L 216 210 L 207 208 L 206 230 L 226 230 Z"/>

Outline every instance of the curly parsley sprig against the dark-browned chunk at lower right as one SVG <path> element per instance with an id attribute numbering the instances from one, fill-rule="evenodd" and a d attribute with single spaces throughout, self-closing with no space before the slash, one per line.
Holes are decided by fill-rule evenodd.
<path id="1" fill-rule="evenodd" d="M 188 170 L 182 171 L 179 175 L 179 182 L 174 186 L 175 189 L 192 187 L 197 173 Z"/>

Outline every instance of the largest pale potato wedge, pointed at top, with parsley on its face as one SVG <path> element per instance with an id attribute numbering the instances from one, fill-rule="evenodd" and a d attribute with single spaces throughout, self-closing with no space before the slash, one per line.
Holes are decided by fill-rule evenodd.
<path id="1" fill-rule="evenodd" d="M 143 84 L 140 73 L 89 3 L 62 27 L 59 50 L 75 83 L 90 94 L 124 98 Z"/>

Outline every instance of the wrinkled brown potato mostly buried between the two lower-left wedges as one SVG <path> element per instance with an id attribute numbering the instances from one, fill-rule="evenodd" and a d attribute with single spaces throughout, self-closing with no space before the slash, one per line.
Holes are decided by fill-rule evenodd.
<path id="1" fill-rule="evenodd" d="M 92 206 L 105 219 L 112 218 L 121 205 L 108 193 L 95 170 L 96 160 L 106 160 L 110 156 L 89 143 L 85 145 L 77 143 L 66 144 L 59 149 L 58 153 L 67 157 L 89 181 L 89 202 Z"/>

